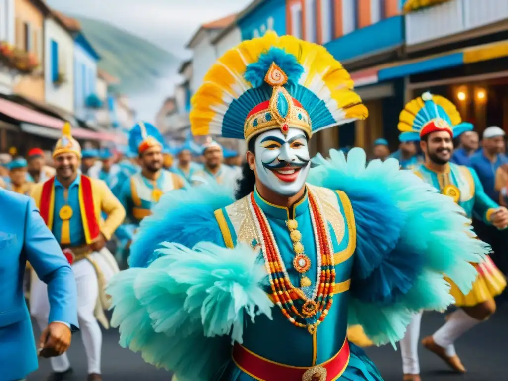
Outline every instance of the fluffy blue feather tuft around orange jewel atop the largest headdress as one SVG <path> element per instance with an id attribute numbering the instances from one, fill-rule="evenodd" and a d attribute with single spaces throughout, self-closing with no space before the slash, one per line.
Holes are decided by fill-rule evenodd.
<path id="1" fill-rule="evenodd" d="M 260 87 L 273 62 L 288 76 L 289 84 L 298 83 L 304 71 L 303 67 L 298 63 L 297 57 L 281 48 L 270 48 L 261 54 L 257 62 L 247 66 L 243 77 L 252 87 Z"/>

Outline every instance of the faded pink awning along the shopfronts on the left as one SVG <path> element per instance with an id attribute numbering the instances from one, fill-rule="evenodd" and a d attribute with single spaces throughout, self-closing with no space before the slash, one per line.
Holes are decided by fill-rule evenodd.
<path id="1" fill-rule="evenodd" d="M 34 135 L 45 136 L 58 139 L 61 134 L 60 130 L 63 128 L 65 121 L 45 115 L 39 111 L 29 109 L 16 102 L 8 101 L 7 99 L 0 98 L 0 113 L 9 116 L 10 118 L 21 121 L 21 130 Z M 38 128 L 38 129 L 35 129 Z M 29 130 L 29 131 L 28 131 Z M 44 132 L 43 135 L 42 132 Z M 111 133 L 97 133 L 80 128 L 73 128 L 72 134 L 75 138 L 86 140 L 110 141 L 117 142 L 124 139 L 117 134 Z"/>

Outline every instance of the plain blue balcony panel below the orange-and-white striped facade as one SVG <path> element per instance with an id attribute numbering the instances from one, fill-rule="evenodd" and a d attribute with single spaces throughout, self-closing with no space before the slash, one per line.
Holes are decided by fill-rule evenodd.
<path id="1" fill-rule="evenodd" d="M 402 16 L 390 17 L 330 41 L 325 47 L 340 61 L 393 50 L 404 43 Z"/>

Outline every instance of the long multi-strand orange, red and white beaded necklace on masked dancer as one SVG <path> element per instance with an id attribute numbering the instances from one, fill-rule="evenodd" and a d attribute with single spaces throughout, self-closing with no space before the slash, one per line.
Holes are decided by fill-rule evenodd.
<path id="1" fill-rule="evenodd" d="M 316 237 L 318 265 L 317 280 L 311 297 L 307 297 L 300 288 L 294 287 L 291 283 L 272 229 L 265 213 L 256 203 L 253 194 L 250 194 L 248 198 L 248 205 L 261 240 L 261 249 L 270 278 L 273 300 L 279 306 L 282 314 L 293 325 L 298 328 L 306 328 L 310 334 L 313 334 L 317 327 L 325 320 L 333 303 L 335 267 L 331 236 L 328 225 L 323 218 L 322 207 L 309 191 L 308 199 L 312 230 Z M 288 227 L 292 225 L 291 221 L 296 223 L 296 220 L 289 220 L 287 221 Z M 291 227 L 290 231 L 292 231 Z M 303 302 L 300 310 L 294 304 L 293 296 L 296 296 L 296 299 Z"/>

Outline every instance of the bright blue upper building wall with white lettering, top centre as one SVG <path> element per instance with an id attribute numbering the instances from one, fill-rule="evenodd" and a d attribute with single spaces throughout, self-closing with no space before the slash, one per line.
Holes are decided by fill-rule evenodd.
<path id="1" fill-rule="evenodd" d="M 285 6 L 285 0 L 266 0 L 245 15 L 238 21 L 242 40 L 256 37 L 256 31 L 263 36 L 267 29 L 273 29 L 279 36 L 287 34 Z"/>

